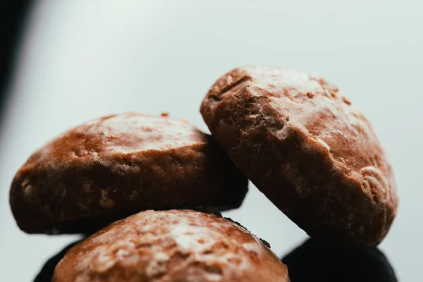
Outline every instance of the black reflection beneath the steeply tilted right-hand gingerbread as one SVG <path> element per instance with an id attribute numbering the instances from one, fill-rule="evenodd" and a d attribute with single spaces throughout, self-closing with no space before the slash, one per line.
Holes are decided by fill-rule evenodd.
<path id="1" fill-rule="evenodd" d="M 341 252 L 309 239 L 283 257 L 291 282 L 393 282 L 395 273 L 377 248 Z"/>

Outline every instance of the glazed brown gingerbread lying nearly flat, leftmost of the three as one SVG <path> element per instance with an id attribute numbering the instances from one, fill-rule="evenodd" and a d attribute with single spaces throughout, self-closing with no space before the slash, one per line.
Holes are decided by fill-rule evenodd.
<path id="1" fill-rule="evenodd" d="M 27 233 L 90 233 L 145 209 L 239 207 L 247 178 L 210 135 L 141 114 L 77 126 L 32 154 L 10 203 Z"/>

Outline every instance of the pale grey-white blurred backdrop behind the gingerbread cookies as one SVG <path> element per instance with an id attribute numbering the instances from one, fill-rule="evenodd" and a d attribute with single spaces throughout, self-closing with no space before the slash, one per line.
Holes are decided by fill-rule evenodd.
<path id="1" fill-rule="evenodd" d="M 419 281 L 422 8 L 387 0 L 37 2 L 1 121 L 0 281 L 31 281 L 73 240 L 25 235 L 11 216 L 8 188 L 33 150 L 87 119 L 125 111 L 168 111 L 207 130 L 204 93 L 249 64 L 319 73 L 367 114 L 400 195 L 381 250 L 401 281 Z M 252 185 L 243 207 L 227 215 L 278 255 L 306 238 Z"/>

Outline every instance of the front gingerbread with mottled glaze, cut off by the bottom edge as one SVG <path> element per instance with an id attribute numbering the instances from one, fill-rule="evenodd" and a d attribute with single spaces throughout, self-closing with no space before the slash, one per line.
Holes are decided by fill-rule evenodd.
<path id="1" fill-rule="evenodd" d="M 286 266 L 237 224 L 190 210 L 146 211 L 75 245 L 54 282 L 289 281 Z"/>

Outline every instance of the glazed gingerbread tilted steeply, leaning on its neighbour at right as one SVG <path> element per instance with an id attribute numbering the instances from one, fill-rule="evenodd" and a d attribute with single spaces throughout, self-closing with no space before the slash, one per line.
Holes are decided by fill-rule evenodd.
<path id="1" fill-rule="evenodd" d="M 398 205 L 393 171 L 338 88 L 299 71 L 236 68 L 200 111 L 235 164 L 309 235 L 348 247 L 384 238 Z"/>

